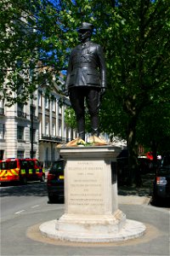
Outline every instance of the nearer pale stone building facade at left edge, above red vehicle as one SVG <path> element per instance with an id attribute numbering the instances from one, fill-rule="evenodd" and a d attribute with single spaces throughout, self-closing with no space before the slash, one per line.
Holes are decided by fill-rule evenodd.
<path id="1" fill-rule="evenodd" d="M 0 100 L 0 157 L 30 158 L 31 154 L 31 102 L 16 103 L 12 107 L 5 106 Z M 34 102 L 36 108 L 36 102 Z M 38 116 L 38 113 L 34 119 Z M 34 123 L 35 157 L 38 156 L 38 119 Z"/>

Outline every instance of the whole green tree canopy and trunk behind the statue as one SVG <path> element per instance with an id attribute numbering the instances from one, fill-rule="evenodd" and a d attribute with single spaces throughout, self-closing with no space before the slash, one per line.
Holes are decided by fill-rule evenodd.
<path id="1" fill-rule="evenodd" d="M 101 129 L 127 139 L 133 183 L 139 119 L 146 106 L 169 102 L 170 2 L 3 0 L 0 12 L 0 89 L 9 102 L 26 98 L 52 72 L 57 80 L 78 43 L 77 27 L 82 21 L 94 24 L 94 41 L 103 46 L 107 64 Z M 26 81 L 28 67 L 32 75 Z M 40 67 L 50 69 L 43 73 Z M 22 94 L 14 98 L 11 91 L 17 90 Z"/>

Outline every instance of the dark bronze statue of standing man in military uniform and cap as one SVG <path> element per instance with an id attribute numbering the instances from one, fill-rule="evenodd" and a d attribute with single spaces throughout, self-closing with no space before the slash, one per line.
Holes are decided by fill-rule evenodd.
<path id="1" fill-rule="evenodd" d="M 99 106 L 105 92 L 105 58 L 99 44 L 90 41 L 94 26 L 82 22 L 78 29 L 78 44 L 71 51 L 65 81 L 65 94 L 70 97 L 71 106 L 77 116 L 78 136 L 85 140 L 86 99 L 91 119 L 92 136 L 99 137 Z"/>

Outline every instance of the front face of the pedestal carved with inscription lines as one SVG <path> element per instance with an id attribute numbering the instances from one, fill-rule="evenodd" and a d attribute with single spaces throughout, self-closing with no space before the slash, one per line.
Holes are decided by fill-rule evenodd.
<path id="1" fill-rule="evenodd" d="M 104 161 L 70 161 L 67 166 L 68 212 L 104 213 Z"/>

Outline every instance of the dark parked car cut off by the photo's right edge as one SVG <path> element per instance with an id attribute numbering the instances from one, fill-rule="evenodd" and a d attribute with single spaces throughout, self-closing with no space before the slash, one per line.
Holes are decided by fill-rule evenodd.
<path id="1" fill-rule="evenodd" d="M 170 199 L 170 153 L 165 154 L 156 172 L 153 187 L 153 201 Z"/>

